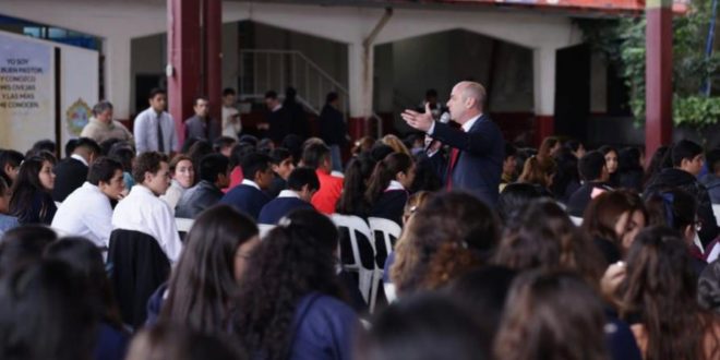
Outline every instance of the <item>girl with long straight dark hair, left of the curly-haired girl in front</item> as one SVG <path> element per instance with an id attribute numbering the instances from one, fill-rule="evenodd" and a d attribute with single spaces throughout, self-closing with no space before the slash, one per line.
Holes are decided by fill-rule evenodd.
<path id="1" fill-rule="evenodd" d="M 160 322 L 202 333 L 229 329 L 248 259 L 260 242 L 254 221 L 228 205 L 203 212 L 172 271 Z"/>

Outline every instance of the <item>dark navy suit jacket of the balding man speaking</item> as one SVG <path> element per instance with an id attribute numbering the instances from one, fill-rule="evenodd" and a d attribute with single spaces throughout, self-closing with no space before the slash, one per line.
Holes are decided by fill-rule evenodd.
<path id="1" fill-rule="evenodd" d="M 453 172 L 447 173 L 445 183 L 449 178 L 453 190 L 467 191 L 494 206 L 503 173 L 505 141 L 500 128 L 490 117 L 481 116 L 468 132 L 435 122 L 432 137 L 460 151 Z"/>

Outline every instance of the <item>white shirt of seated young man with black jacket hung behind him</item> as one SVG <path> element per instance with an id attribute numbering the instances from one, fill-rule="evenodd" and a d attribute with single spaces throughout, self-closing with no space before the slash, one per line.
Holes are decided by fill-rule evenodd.
<path id="1" fill-rule="evenodd" d="M 134 230 L 155 238 L 170 263 L 180 259 L 182 243 L 170 206 L 144 185 L 134 185 L 112 214 L 112 229 Z"/>

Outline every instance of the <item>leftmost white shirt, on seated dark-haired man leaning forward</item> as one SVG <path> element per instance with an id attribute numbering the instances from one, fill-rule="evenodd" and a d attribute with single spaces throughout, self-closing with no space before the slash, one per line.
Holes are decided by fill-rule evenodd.
<path id="1" fill-rule="evenodd" d="M 52 227 L 69 236 L 77 236 L 107 248 L 112 231 L 110 199 L 96 185 L 85 181 L 62 202 L 52 218 Z"/>

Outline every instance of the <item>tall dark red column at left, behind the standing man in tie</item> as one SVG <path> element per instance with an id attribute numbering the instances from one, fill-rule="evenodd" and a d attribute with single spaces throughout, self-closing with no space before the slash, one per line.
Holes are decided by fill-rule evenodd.
<path id="1" fill-rule="evenodd" d="M 193 115 L 192 100 L 200 95 L 200 0 L 167 0 L 167 4 L 168 63 L 172 67 L 168 76 L 168 105 L 182 144 L 183 121 Z"/>

